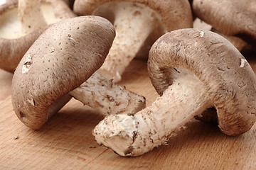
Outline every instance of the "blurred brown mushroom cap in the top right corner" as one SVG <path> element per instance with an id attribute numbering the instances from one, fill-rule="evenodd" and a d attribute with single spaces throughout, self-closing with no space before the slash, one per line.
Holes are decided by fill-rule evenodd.
<path id="1" fill-rule="evenodd" d="M 249 35 L 256 40 L 255 0 L 193 0 L 193 12 L 225 35 Z"/>

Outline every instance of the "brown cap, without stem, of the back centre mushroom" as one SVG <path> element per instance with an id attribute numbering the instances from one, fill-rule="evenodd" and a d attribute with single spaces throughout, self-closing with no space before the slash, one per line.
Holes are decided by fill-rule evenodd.
<path id="1" fill-rule="evenodd" d="M 114 1 L 114 0 L 112 0 Z M 115 0 L 116 2 L 124 0 Z M 127 1 L 127 0 L 126 0 Z M 144 4 L 159 13 L 161 21 L 166 30 L 176 30 L 178 28 L 192 28 L 193 18 L 191 8 L 187 0 L 128 0 Z M 74 12 L 78 16 L 92 15 L 98 6 L 111 2 L 111 0 L 76 0 L 74 4 Z"/>

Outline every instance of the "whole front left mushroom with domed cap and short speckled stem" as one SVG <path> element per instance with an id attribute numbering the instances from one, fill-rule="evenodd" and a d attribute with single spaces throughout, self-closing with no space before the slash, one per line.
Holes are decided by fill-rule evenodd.
<path id="1" fill-rule="evenodd" d="M 97 73 L 91 77 L 104 62 L 114 35 L 112 24 L 98 16 L 69 18 L 50 26 L 14 72 L 11 100 L 21 122 L 39 129 L 71 96 L 81 99 L 82 93 L 84 104 L 105 114 L 144 108 L 144 97 Z"/>

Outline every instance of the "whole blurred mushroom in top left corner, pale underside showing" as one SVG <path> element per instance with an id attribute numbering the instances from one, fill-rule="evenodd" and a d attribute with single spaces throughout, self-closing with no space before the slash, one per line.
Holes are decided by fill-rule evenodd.
<path id="1" fill-rule="evenodd" d="M 63 18 L 75 16 L 61 0 L 42 0 L 41 6 L 38 4 L 38 0 L 13 0 L 0 7 L 0 69 L 14 72 L 43 30 Z"/>

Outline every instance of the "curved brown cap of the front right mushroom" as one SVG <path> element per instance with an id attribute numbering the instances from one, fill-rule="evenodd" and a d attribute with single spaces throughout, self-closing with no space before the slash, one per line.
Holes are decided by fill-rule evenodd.
<path id="1" fill-rule="evenodd" d="M 177 68 L 202 81 L 226 135 L 239 135 L 255 123 L 255 74 L 228 40 L 192 28 L 166 33 L 151 47 L 148 61 L 149 77 L 160 95 L 175 81 Z"/>

